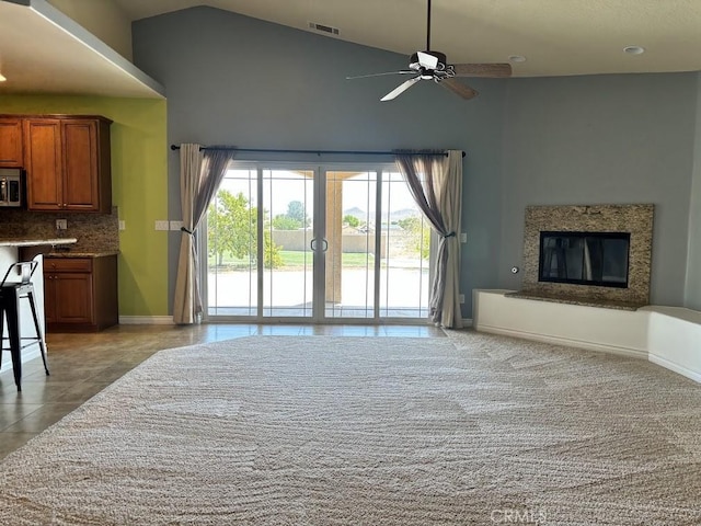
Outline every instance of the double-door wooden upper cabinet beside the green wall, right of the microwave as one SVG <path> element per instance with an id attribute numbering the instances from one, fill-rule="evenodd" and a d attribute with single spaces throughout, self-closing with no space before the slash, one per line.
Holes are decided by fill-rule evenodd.
<path id="1" fill-rule="evenodd" d="M 112 211 L 111 123 L 99 116 L 23 119 L 30 210 Z"/>

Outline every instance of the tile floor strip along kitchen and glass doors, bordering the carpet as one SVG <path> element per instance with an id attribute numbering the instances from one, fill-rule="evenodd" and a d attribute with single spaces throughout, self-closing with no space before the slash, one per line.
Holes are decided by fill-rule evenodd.
<path id="1" fill-rule="evenodd" d="M 48 334 L 51 376 L 42 358 L 23 365 L 22 392 L 12 370 L 0 374 L 0 459 L 18 449 L 157 351 L 256 334 L 445 336 L 428 325 L 203 324 L 118 325 L 91 334 Z M 9 361 L 10 353 L 2 353 Z"/>

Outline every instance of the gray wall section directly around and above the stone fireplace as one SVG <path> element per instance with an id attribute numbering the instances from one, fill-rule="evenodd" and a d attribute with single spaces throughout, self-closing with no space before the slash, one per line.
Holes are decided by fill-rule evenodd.
<path id="1" fill-rule="evenodd" d="M 655 205 L 651 301 L 685 297 L 696 73 L 512 79 L 499 285 L 519 288 L 526 205 Z"/>

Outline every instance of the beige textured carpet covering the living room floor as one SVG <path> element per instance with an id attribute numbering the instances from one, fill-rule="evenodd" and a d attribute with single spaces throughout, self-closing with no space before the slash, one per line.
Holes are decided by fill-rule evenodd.
<path id="1" fill-rule="evenodd" d="M 2 525 L 701 524 L 701 386 L 473 332 L 163 351 L 0 465 Z"/>

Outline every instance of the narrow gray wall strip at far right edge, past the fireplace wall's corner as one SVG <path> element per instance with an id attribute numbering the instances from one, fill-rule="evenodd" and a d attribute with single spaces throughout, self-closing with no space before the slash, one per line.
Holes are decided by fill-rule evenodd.
<path id="1" fill-rule="evenodd" d="M 701 310 L 701 73 L 697 73 L 697 106 L 694 163 L 689 213 L 689 256 L 687 259 L 687 290 L 685 307 Z M 691 113 L 691 112 L 690 112 Z"/>

